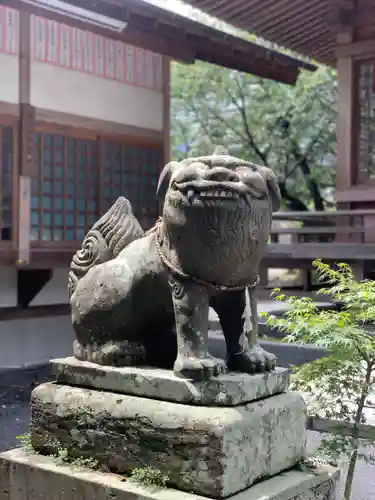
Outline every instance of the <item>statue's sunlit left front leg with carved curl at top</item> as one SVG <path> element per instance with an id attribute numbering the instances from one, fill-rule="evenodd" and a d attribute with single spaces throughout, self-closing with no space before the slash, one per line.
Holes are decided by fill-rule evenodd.
<path id="1" fill-rule="evenodd" d="M 170 280 L 176 321 L 177 359 L 173 371 L 179 377 L 206 380 L 226 371 L 224 361 L 207 351 L 208 292 L 191 282 Z"/>

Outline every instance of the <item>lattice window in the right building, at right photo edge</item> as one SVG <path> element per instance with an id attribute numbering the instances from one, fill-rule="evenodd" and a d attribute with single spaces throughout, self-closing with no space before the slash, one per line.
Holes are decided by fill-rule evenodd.
<path id="1" fill-rule="evenodd" d="M 375 178 L 375 62 L 358 65 L 358 174 L 359 180 Z"/>

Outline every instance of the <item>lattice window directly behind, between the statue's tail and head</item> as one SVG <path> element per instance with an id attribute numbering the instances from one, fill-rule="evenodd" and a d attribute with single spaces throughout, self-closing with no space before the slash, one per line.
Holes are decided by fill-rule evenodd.
<path id="1" fill-rule="evenodd" d="M 125 196 L 144 228 L 158 216 L 156 186 L 161 167 L 161 149 L 105 141 L 102 148 L 103 199 L 105 208 Z"/>

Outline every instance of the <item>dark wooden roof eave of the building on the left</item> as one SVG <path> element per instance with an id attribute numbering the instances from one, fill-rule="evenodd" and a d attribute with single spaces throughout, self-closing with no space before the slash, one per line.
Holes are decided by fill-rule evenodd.
<path id="1" fill-rule="evenodd" d="M 316 66 L 229 35 L 143 0 L 64 0 L 123 23 L 111 29 L 82 16 L 51 9 L 46 0 L 0 0 L 0 4 L 120 40 L 187 64 L 196 59 L 294 84 L 302 68 Z M 191 2 L 197 3 L 197 2 Z M 218 2 L 221 3 L 221 2 Z"/>

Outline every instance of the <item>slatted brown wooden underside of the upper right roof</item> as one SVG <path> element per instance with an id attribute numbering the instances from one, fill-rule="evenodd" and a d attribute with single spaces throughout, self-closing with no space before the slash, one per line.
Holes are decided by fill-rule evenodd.
<path id="1" fill-rule="evenodd" d="M 338 34 L 375 38 L 374 0 L 185 0 L 233 26 L 331 66 Z"/>

